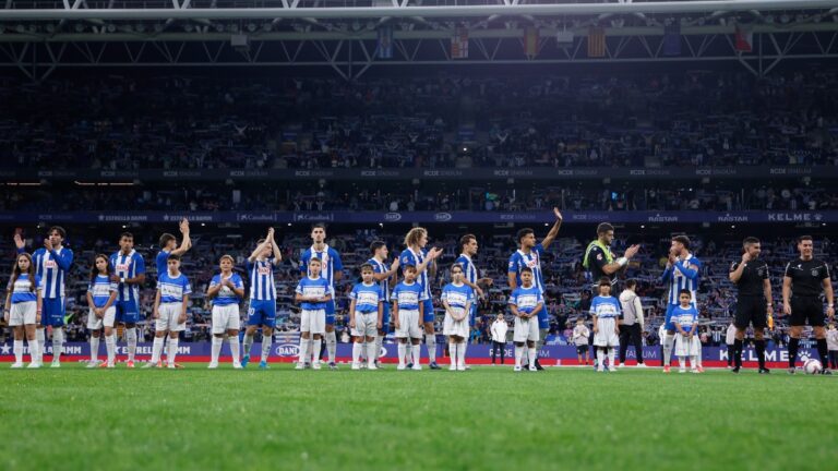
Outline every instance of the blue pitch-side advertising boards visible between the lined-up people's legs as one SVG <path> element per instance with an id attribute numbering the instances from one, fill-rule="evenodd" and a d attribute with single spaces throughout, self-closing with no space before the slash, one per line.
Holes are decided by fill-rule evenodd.
<path id="1" fill-rule="evenodd" d="M 46 347 L 46 354 L 50 355 L 52 354 L 52 346 L 51 343 L 47 342 Z M 438 358 L 442 358 L 443 355 L 444 346 L 438 343 L 436 346 L 436 355 Z M 589 349 L 590 350 L 590 349 Z M 254 343 L 253 348 L 251 350 L 252 352 L 261 352 L 262 347 L 260 343 Z M 124 343 L 121 343 L 117 346 L 117 354 L 120 357 L 124 357 L 128 353 L 127 348 Z M 211 355 L 211 345 L 210 342 L 181 342 L 178 346 L 178 359 L 181 359 L 183 361 L 205 361 Z M 396 352 L 396 345 L 395 343 L 385 343 L 383 346 L 383 353 L 385 359 L 396 359 L 397 352 Z M 512 342 L 506 345 L 504 357 L 506 358 L 514 358 L 514 346 Z M 9 362 L 13 360 L 13 351 L 12 351 L 12 343 L 5 342 L 0 343 L 0 361 Z M 28 357 L 29 350 L 28 346 L 24 346 L 24 355 Z M 64 345 L 64 354 L 70 357 L 83 357 L 83 358 L 89 358 L 91 355 L 91 346 L 86 342 L 70 342 Z M 137 358 L 145 358 L 151 357 L 152 354 L 152 343 L 140 343 L 136 347 L 136 355 Z M 224 348 L 222 349 L 222 355 L 223 357 L 229 357 L 230 351 L 229 347 L 225 343 Z M 258 353 L 256 353 L 258 354 Z M 274 342 L 271 347 L 271 357 L 272 358 L 278 358 L 278 359 L 296 359 L 299 354 L 299 345 L 297 342 L 282 342 L 277 341 Z M 500 354 L 500 352 L 498 352 Z M 660 347 L 644 347 L 643 348 L 643 358 L 644 360 L 650 361 L 650 362 L 659 362 L 661 360 L 661 348 Z M 104 359 L 106 355 L 105 346 L 99 345 L 99 358 Z M 338 343 L 337 345 L 337 357 L 342 359 L 351 358 L 352 355 L 352 346 L 351 343 Z M 492 355 L 492 346 L 490 345 L 470 345 L 468 347 L 468 358 L 471 360 L 488 360 Z M 427 357 L 427 351 L 424 347 L 422 347 L 422 357 Z M 770 348 L 767 349 L 765 352 L 766 361 L 768 362 L 781 362 L 786 363 L 789 361 L 789 353 L 785 348 L 777 349 L 777 348 Z M 546 346 L 541 349 L 539 352 L 539 358 L 541 359 L 541 362 L 544 364 L 561 364 L 562 362 L 567 361 L 575 361 L 576 360 L 576 347 L 574 346 Z M 702 358 L 704 361 L 707 362 L 727 362 L 728 360 L 728 350 L 726 348 L 718 348 L 718 347 L 706 347 L 702 349 Z M 815 349 L 805 349 L 802 348 L 800 350 L 800 361 L 805 361 L 809 358 L 817 359 L 817 351 Z M 635 353 L 634 348 L 630 348 L 626 353 L 627 360 L 635 360 Z M 753 349 L 746 349 L 743 352 L 743 359 L 746 362 L 756 361 L 756 352 Z"/>

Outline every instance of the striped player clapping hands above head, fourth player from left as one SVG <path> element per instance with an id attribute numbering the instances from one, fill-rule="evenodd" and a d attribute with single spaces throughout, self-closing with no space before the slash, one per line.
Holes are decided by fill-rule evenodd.
<path id="1" fill-rule="evenodd" d="M 283 254 L 274 240 L 274 228 L 267 230 L 267 237 L 256 243 L 256 249 L 248 257 L 250 273 L 250 309 L 248 310 L 248 329 L 244 331 L 244 355 L 241 366 L 250 363 L 250 348 L 253 335 L 262 327 L 262 360 L 259 367 L 267 370 L 267 358 L 276 327 L 276 280 L 274 267 L 283 261 Z"/>

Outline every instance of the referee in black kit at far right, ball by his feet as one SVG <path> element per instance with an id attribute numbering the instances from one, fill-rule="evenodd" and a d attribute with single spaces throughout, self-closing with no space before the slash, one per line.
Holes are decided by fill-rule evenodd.
<path id="1" fill-rule="evenodd" d="M 833 374 L 828 369 L 828 349 L 826 347 L 826 330 L 824 329 L 824 304 L 821 301 L 821 292 L 826 294 L 826 315 L 831 321 L 835 316 L 833 297 L 833 283 L 829 279 L 829 266 L 812 256 L 813 244 L 811 235 L 801 235 L 798 239 L 800 258 L 786 265 L 786 276 L 782 278 L 782 312 L 791 315 L 789 340 L 789 373 L 794 374 L 794 361 L 798 357 L 800 335 L 803 326 L 809 325 L 814 330 L 817 339 L 817 353 L 821 355 L 821 364 L 824 365 L 823 374 Z M 792 294 L 793 291 L 793 294 Z"/>

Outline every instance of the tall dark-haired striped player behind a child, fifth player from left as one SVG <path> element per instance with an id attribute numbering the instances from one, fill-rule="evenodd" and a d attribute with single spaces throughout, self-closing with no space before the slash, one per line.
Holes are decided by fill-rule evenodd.
<path id="1" fill-rule="evenodd" d="M 311 227 L 312 245 L 300 257 L 300 270 L 302 275 L 311 275 L 309 261 L 318 258 L 323 265 L 321 276 L 328 282 L 332 300 L 326 303 L 326 351 L 328 352 L 328 367 L 337 370 L 335 355 L 337 353 L 337 336 L 335 335 L 335 281 L 344 278 L 344 264 L 340 254 L 326 244 L 326 227 L 315 224 Z M 318 355 L 320 352 L 316 352 Z"/>

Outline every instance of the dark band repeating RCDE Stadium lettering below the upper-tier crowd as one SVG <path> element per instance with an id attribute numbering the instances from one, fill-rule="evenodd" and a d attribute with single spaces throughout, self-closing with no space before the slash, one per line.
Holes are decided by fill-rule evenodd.
<path id="1" fill-rule="evenodd" d="M 692 167 L 692 168 L 632 168 L 632 167 L 516 167 L 516 168 L 392 168 L 392 169 L 145 169 L 145 170 L 38 170 L 0 169 L 0 179 L 14 182 L 37 181 L 183 181 L 183 180 L 382 180 L 382 179 L 431 179 L 431 180 L 671 180 L 696 178 L 722 179 L 789 179 L 799 177 L 835 178 L 836 166 L 812 167 Z"/>

